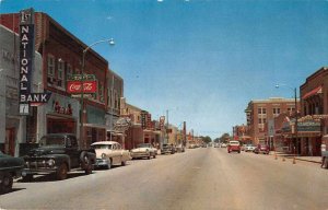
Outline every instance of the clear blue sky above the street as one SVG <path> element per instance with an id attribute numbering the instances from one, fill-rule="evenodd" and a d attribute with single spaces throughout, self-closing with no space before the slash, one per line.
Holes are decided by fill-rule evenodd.
<path id="1" fill-rule="evenodd" d="M 125 81 L 127 102 L 153 118 L 220 137 L 246 124 L 251 100 L 293 97 L 328 62 L 328 1 L 0 0 L 34 8 L 90 45 Z M 297 92 L 298 93 L 298 92 Z"/>

